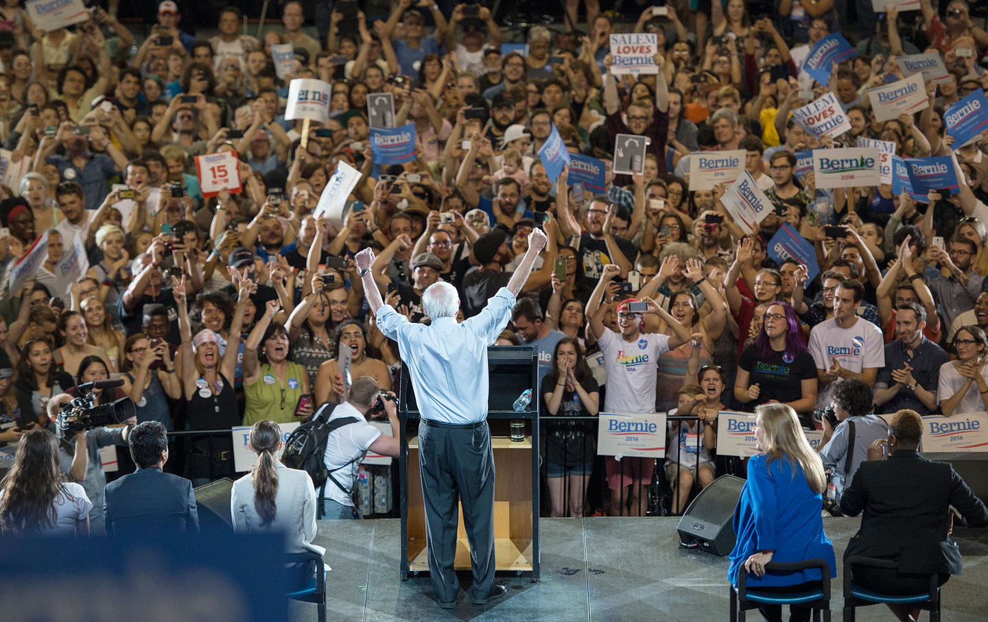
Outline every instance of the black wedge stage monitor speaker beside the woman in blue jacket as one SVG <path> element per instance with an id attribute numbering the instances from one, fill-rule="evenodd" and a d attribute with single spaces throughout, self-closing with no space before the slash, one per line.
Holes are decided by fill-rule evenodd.
<path id="1" fill-rule="evenodd" d="M 744 480 L 722 475 L 700 491 L 686 508 L 677 531 L 684 546 L 699 544 L 714 555 L 727 555 L 734 548 L 734 508 L 741 497 Z"/>

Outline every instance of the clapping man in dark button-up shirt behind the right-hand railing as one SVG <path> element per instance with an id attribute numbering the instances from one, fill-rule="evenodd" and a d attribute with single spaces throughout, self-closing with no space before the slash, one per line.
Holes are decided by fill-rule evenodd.
<path id="1" fill-rule="evenodd" d="M 926 309 L 915 302 L 896 308 L 895 336 L 885 345 L 885 366 L 874 381 L 874 404 L 879 414 L 911 409 L 929 415 L 937 408 L 940 368 L 947 352 L 928 340 Z"/>

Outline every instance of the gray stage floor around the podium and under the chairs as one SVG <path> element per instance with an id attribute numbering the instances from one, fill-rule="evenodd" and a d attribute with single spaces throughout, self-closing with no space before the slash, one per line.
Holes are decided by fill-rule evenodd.
<path id="1" fill-rule="evenodd" d="M 679 518 L 546 518 L 542 532 L 541 580 L 499 580 L 504 597 L 471 605 L 460 592 L 454 609 L 442 609 L 428 578 L 400 581 L 400 523 L 397 519 L 319 521 L 316 543 L 326 547 L 328 619 L 334 622 L 391 620 L 627 620 L 690 622 L 727 619 L 727 558 L 681 549 Z M 858 518 L 825 518 L 838 563 Z M 948 622 L 988 619 L 988 537 L 960 536 L 964 573 L 944 587 Z M 833 583 L 831 611 L 841 619 L 841 570 Z M 468 582 L 466 577 L 461 581 Z M 469 583 L 464 583 L 468 585 Z M 750 620 L 760 620 L 751 612 Z M 750 614 L 751 615 L 751 614 Z M 315 605 L 292 602 L 290 619 L 316 620 Z M 922 618 L 926 620 L 926 616 Z M 883 605 L 859 609 L 858 620 L 894 620 Z"/>

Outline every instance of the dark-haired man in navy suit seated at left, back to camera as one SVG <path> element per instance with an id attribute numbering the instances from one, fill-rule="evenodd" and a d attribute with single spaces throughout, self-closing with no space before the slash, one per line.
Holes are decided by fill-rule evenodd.
<path id="1" fill-rule="evenodd" d="M 129 445 L 137 470 L 107 485 L 107 533 L 198 532 L 192 482 L 161 470 L 168 461 L 165 427 L 138 424 L 130 430 Z"/>

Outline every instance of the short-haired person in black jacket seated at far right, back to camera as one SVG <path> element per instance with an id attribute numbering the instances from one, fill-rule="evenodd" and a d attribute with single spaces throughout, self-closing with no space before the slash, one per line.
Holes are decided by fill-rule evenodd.
<path id="1" fill-rule="evenodd" d="M 851 538 L 844 559 L 859 555 L 898 564 L 897 569 L 855 569 L 855 583 L 887 594 L 923 593 L 930 575 L 940 583 L 959 575 L 960 552 L 950 540 L 953 515 L 967 526 L 988 525 L 988 509 L 975 497 L 953 467 L 919 454 L 923 420 L 916 411 L 899 411 L 888 438 L 868 447 L 851 486 L 841 497 L 841 511 L 854 516 L 864 510 L 862 526 Z M 883 447 L 888 459 L 882 460 Z M 922 486 L 917 483 L 922 482 Z M 954 511 L 949 509 L 953 506 Z M 889 604 L 899 620 L 918 620 L 919 610 Z"/>

